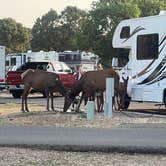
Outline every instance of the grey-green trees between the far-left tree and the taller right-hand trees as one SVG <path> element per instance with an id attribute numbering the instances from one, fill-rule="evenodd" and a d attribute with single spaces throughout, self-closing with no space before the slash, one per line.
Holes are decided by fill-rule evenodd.
<path id="1" fill-rule="evenodd" d="M 74 50 L 77 49 L 76 34 L 86 12 L 68 6 L 60 15 L 50 10 L 36 20 L 32 28 L 32 49 Z"/>

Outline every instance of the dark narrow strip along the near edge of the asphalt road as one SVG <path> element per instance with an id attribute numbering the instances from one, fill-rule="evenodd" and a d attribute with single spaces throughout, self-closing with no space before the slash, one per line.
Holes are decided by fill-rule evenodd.
<path id="1" fill-rule="evenodd" d="M 38 150 L 55 150 L 67 152 L 104 152 L 104 153 L 127 153 L 127 154 L 166 154 L 164 147 L 123 147 L 102 145 L 40 145 L 40 144 L 0 144 L 0 147 L 30 148 Z"/>

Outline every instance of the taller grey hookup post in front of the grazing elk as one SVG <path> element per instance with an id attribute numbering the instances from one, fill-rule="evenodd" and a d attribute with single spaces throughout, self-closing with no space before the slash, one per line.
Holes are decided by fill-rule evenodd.
<path id="1" fill-rule="evenodd" d="M 104 106 L 104 116 L 112 118 L 112 99 L 114 96 L 114 78 L 109 77 L 106 79 L 106 100 Z"/>

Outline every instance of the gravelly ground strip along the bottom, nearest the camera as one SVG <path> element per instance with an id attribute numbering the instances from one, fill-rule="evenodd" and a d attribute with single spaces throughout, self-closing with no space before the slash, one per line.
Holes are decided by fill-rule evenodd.
<path id="1" fill-rule="evenodd" d="M 57 152 L 0 148 L 1 166 L 165 166 L 164 155 Z"/>

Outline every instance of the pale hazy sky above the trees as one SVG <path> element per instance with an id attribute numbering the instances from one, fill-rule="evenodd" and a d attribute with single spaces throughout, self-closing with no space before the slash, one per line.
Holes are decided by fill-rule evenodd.
<path id="1" fill-rule="evenodd" d="M 89 10 L 93 1 L 96 0 L 0 0 L 0 19 L 11 17 L 32 28 L 35 20 L 50 9 L 58 14 L 67 6 Z"/>

